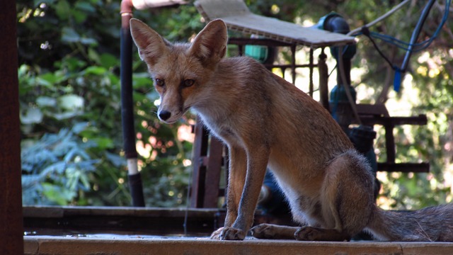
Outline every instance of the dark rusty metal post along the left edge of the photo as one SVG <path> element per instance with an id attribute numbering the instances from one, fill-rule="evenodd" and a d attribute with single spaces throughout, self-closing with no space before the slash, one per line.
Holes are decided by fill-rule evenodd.
<path id="1" fill-rule="evenodd" d="M 0 254 L 23 254 L 16 1 L 0 10 Z"/>

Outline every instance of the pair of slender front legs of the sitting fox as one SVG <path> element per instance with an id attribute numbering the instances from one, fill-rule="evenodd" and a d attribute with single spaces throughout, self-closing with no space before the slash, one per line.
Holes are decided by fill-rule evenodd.
<path id="1" fill-rule="evenodd" d="M 237 152 L 231 152 L 230 154 L 231 177 L 229 179 L 228 209 L 225 227 L 218 229 L 212 234 L 212 238 L 214 239 L 242 240 L 246 237 L 248 229 L 250 229 L 253 224 L 256 203 L 258 202 L 261 185 L 263 184 L 265 169 L 268 165 L 269 149 L 263 147 L 247 150 L 245 153 L 246 173 L 243 173 L 245 170 L 244 168 L 235 168 L 236 162 L 233 161 L 235 160 L 235 157 L 239 156 L 239 154 L 236 153 Z M 242 153 L 242 157 L 243 155 L 244 153 Z M 242 160 L 241 162 L 244 161 Z M 236 171 L 236 173 L 234 173 L 234 171 Z M 240 177 L 239 180 L 237 177 Z M 244 177 L 245 181 L 243 181 Z M 242 196 L 240 194 L 242 194 Z M 234 214 L 235 212 L 236 215 Z M 233 220 L 234 222 L 231 225 Z"/>

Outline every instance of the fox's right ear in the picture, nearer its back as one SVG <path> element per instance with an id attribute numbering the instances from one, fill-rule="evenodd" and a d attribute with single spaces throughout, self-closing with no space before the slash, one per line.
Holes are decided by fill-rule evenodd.
<path id="1" fill-rule="evenodd" d="M 224 57 L 227 41 L 226 25 L 224 21 L 216 19 L 208 23 L 195 37 L 190 54 L 198 57 L 205 66 L 215 64 Z"/>

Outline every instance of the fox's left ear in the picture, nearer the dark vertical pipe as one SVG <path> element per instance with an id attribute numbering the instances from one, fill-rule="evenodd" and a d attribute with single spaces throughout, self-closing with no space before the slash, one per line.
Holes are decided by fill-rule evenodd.
<path id="1" fill-rule="evenodd" d="M 139 49 L 140 59 L 147 64 L 155 64 L 159 57 L 168 51 L 168 47 L 171 47 L 170 42 L 137 18 L 130 20 L 130 33 Z"/>

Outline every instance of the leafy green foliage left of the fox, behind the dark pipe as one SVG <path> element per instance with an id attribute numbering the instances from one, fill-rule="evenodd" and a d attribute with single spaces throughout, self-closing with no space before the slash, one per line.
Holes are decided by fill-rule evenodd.
<path id="1" fill-rule="evenodd" d="M 24 203 L 130 205 L 119 114 L 120 2 L 17 3 Z M 137 17 L 187 40 L 202 27 L 195 13 L 188 6 Z M 149 206 L 178 206 L 191 144 L 178 140 L 180 125 L 156 119 L 158 96 L 145 72 L 134 52 L 137 142 L 148 156 L 139 158 L 144 195 Z"/>

